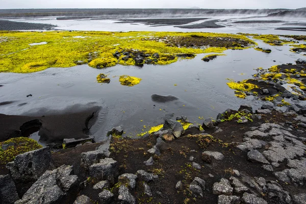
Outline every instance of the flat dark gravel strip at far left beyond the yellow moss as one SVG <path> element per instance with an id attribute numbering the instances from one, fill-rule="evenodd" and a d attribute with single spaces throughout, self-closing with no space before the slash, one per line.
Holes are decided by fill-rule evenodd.
<path id="1" fill-rule="evenodd" d="M 45 23 L 17 22 L 0 20 L 0 31 L 9 30 L 54 30 L 57 25 Z"/>

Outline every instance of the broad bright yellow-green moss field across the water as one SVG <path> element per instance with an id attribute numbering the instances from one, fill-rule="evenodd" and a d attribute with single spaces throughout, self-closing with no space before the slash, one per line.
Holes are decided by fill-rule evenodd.
<path id="1" fill-rule="evenodd" d="M 242 35 L 178 32 L 3 31 L 0 38 L 5 39 L 0 41 L 0 72 L 18 73 L 36 72 L 48 67 L 71 67 L 78 62 L 89 63 L 90 66 L 99 68 L 118 63 L 134 65 L 132 59 L 122 61 L 112 55 L 120 49 L 141 50 L 148 54 L 159 53 L 161 58 L 157 64 L 163 65 L 176 62 L 175 56 L 178 54 L 220 53 L 227 48 L 241 48 L 241 44 L 256 44 Z M 160 40 L 165 38 L 180 44 L 195 39 L 197 44 L 191 47 L 188 43 L 186 46 L 174 45 L 170 40 Z M 218 38 L 224 40 L 218 41 Z M 39 42 L 47 44 L 29 45 Z M 210 47 L 205 50 L 207 46 Z M 94 55 L 91 55 L 92 53 Z M 169 56 L 174 56 L 174 59 L 169 60 Z"/>

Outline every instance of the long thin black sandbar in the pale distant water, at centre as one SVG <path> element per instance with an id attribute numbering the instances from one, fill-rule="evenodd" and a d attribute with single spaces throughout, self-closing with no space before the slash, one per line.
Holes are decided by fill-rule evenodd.
<path id="1" fill-rule="evenodd" d="M 208 18 L 163 18 L 163 19 L 120 19 L 115 23 L 144 23 L 145 25 L 183 25 Z"/>

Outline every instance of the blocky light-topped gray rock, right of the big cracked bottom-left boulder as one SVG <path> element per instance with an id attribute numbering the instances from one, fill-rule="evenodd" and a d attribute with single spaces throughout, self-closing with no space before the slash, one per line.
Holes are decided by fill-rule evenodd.
<path id="1" fill-rule="evenodd" d="M 118 162 L 112 158 L 101 159 L 99 163 L 89 167 L 89 174 L 98 180 L 108 180 L 114 184 L 114 178 L 118 176 Z"/>

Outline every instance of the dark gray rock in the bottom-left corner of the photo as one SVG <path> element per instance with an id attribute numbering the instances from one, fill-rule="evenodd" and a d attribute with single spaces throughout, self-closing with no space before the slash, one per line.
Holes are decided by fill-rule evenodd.
<path id="1" fill-rule="evenodd" d="M 0 175 L 0 203 L 13 204 L 19 200 L 15 184 L 10 174 Z"/>

